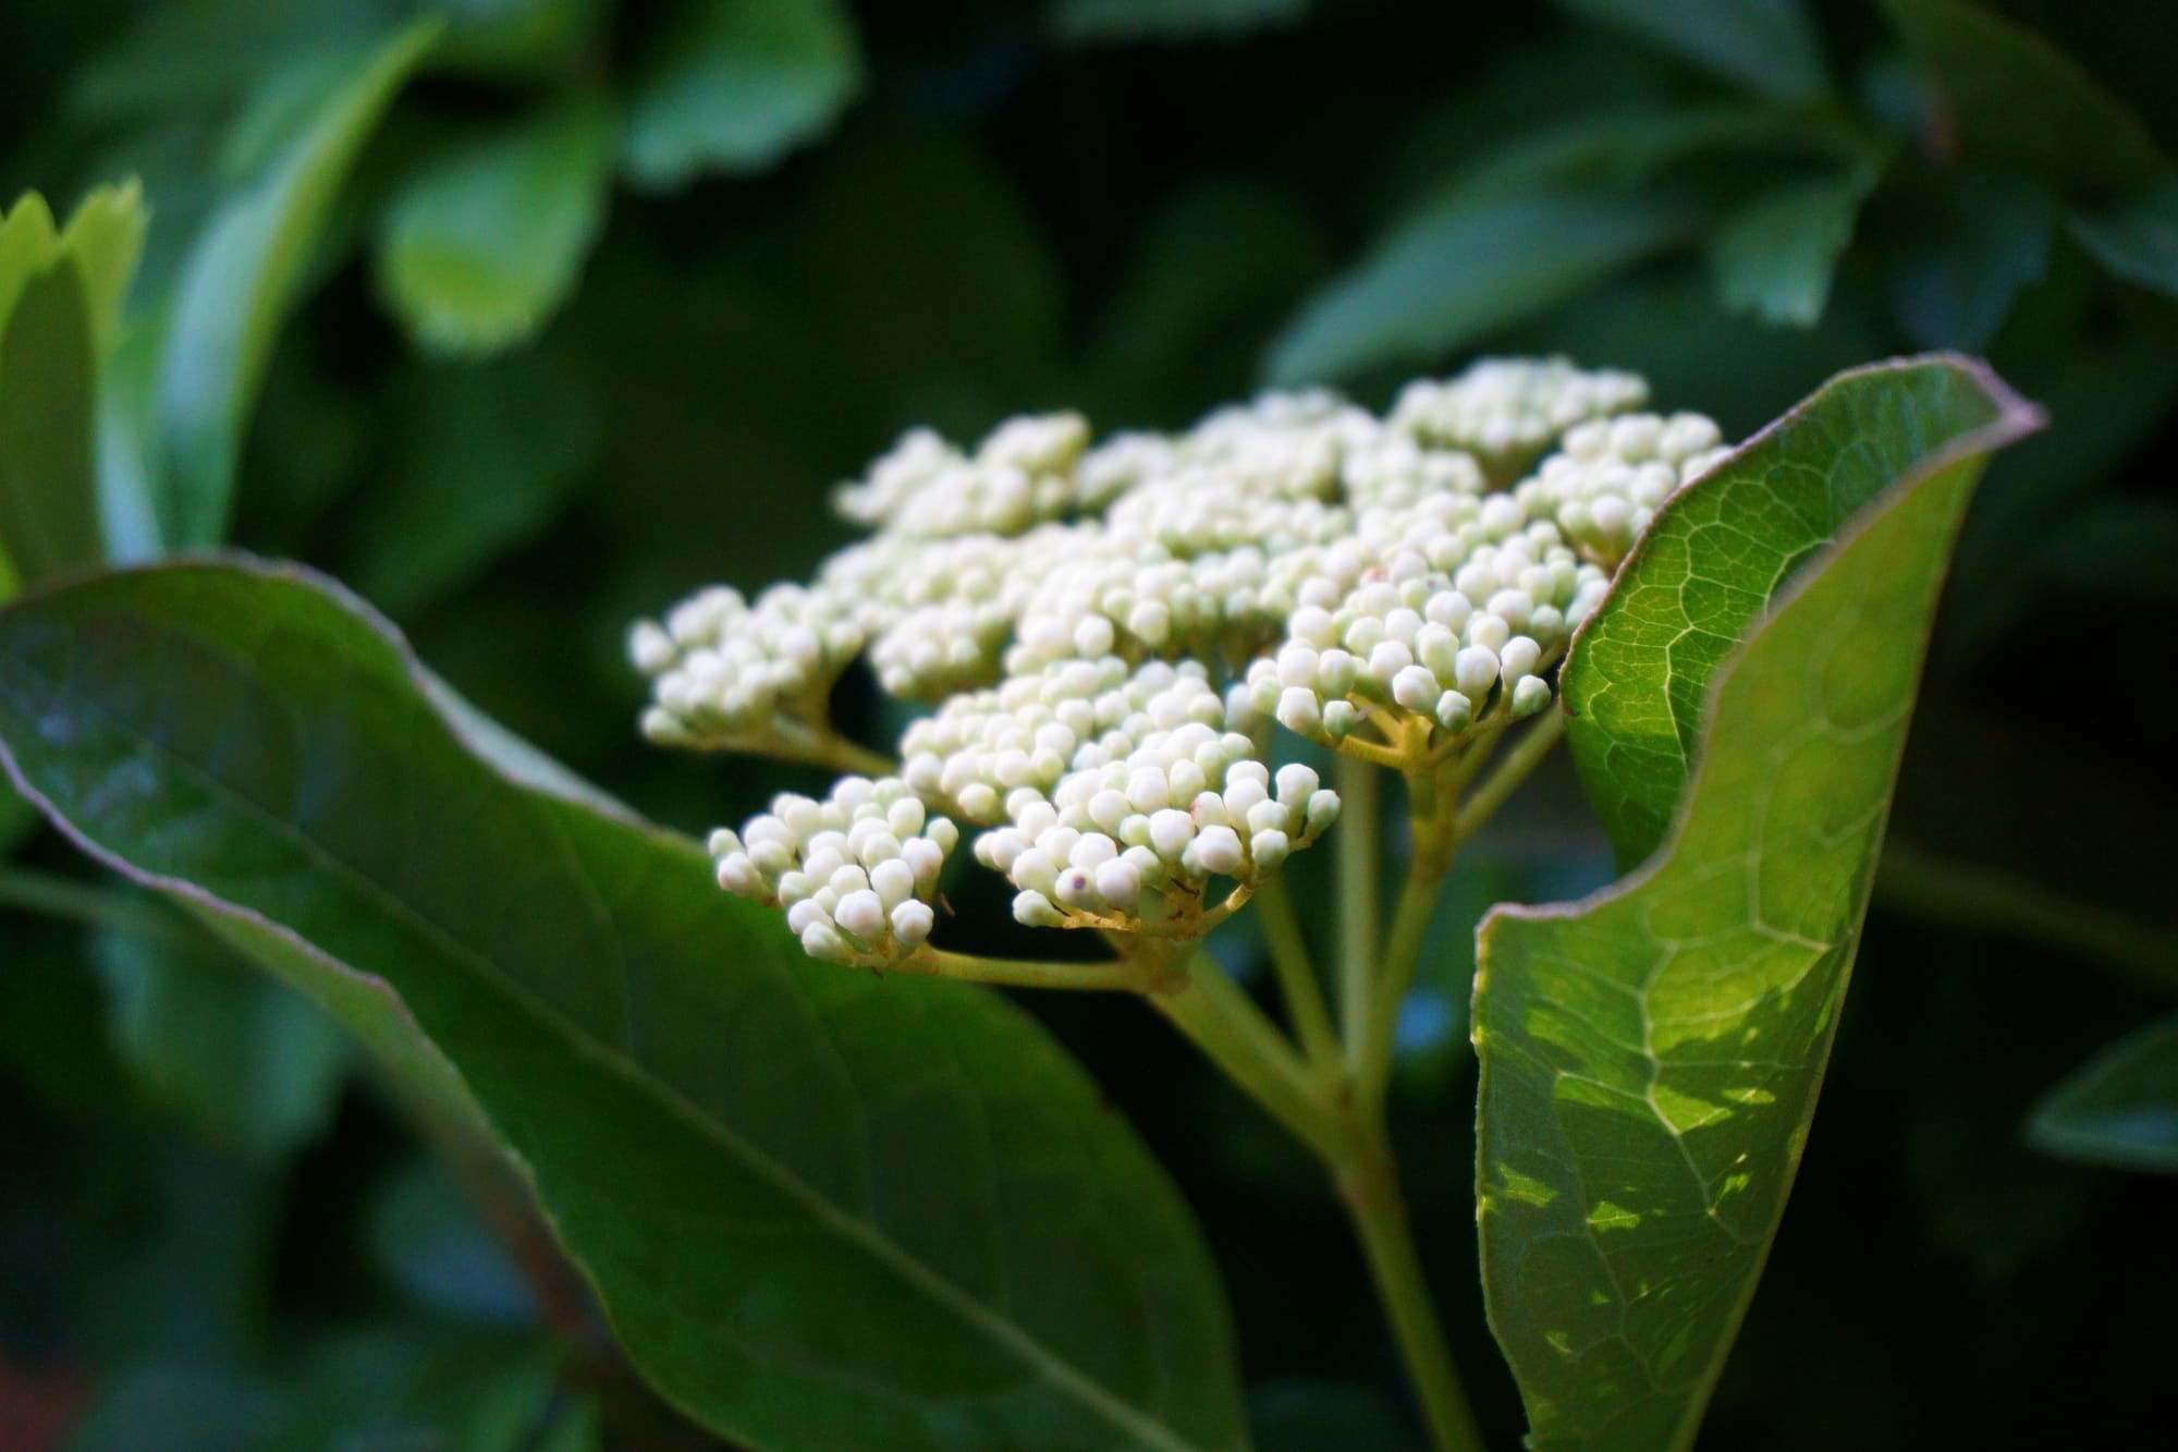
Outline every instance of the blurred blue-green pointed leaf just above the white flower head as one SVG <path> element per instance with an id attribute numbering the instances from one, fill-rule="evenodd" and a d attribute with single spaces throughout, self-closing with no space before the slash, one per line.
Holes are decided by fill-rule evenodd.
<path id="1" fill-rule="evenodd" d="M 1302 384 L 1442 358 L 1681 240 L 1655 194 L 1455 196 L 1385 238 L 1272 342 L 1270 377 Z"/>

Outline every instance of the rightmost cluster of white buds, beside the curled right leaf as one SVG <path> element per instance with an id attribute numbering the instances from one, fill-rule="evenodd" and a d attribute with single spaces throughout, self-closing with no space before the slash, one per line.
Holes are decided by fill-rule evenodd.
<path id="1" fill-rule="evenodd" d="M 1588 558 L 1616 567 L 1664 499 L 1729 449 L 1703 414 L 1627 414 L 1566 432 L 1514 495 L 1557 525 Z"/>

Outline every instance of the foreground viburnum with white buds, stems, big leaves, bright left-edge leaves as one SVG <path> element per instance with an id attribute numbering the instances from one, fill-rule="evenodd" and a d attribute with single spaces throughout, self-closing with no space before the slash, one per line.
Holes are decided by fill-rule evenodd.
<path id="1" fill-rule="evenodd" d="M 1187 1206 L 995 983 L 1143 999 L 1313 1151 L 1435 1443 L 1481 1445 L 1387 1103 L 1461 848 L 1564 741 L 1625 876 L 1477 929 L 1481 1286 L 1531 1445 L 1692 1441 L 1810 1132 L 1949 541 L 2039 423 L 1986 368 L 1847 373 L 1732 449 L 1555 360 L 1383 416 L 910 434 L 839 491 L 871 534 L 817 580 L 632 632 L 649 737 L 839 772 L 706 852 L 338 584 L 155 558 L 224 473 L 96 467 L 139 235 L 126 192 L 0 225 L 7 783 L 512 1171 L 693 1421 L 760 1452 L 1250 1443 Z M 923 709 L 895 741 L 832 717 L 856 661 Z M 1333 890 L 1296 903 L 1307 852 Z M 1004 894 L 1011 922 L 950 911 Z M 1220 935 L 1241 913 L 1261 955 Z"/>

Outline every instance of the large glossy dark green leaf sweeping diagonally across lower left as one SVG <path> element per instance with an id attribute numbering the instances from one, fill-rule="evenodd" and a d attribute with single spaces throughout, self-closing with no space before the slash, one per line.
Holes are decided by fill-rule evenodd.
<path id="1" fill-rule="evenodd" d="M 0 757 L 100 861 L 464 1086 L 632 1360 L 710 1428 L 1244 1443 L 1185 1206 L 1030 1018 L 821 968 L 695 844 L 501 776 L 298 571 L 15 604 Z"/>

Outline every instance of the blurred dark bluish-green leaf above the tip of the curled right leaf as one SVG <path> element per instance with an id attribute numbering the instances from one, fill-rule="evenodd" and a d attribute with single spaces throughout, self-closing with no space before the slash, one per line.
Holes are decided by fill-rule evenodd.
<path id="1" fill-rule="evenodd" d="M 2026 177 L 1947 172 L 1921 192 L 1891 270 L 1891 307 L 1921 347 L 1986 344 L 2012 299 L 2049 264 L 2056 205 Z"/>

